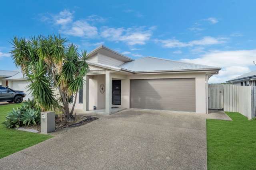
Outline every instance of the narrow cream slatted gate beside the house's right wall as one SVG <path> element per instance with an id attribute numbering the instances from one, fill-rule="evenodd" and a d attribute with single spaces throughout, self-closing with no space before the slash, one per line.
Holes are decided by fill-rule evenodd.
<path id="1" fill-rule="evenodd" d="M 208 85 L 208 108 L 223 109 L 223 87 L 224 84 Z"/>

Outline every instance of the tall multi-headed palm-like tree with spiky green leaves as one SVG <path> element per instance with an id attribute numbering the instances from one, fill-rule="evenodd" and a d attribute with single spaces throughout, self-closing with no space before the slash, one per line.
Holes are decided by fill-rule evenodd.
<path id="1" fill-rule="evenodd" d="M 29 78 L 28 88 L 42 109 L 61 109 L 67 120 L 73 120 L 77 93 L 89 69 L 86 51 L 78 53 L 78 47 L 60 35 L 30 39 L 14 36 L 12 46 L 12 59 Z M 54 93 L 56 90 L 58 95 Z M 73 95 L 70 111 L 68 105 L 72 103 Z"/>

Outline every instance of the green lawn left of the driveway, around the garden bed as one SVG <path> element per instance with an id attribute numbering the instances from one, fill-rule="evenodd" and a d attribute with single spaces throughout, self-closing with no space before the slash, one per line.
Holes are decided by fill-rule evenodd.
<path id="1" fill-rule="evenodd" d="M 20 105 L 21 104 L 8 104 L 0 106 L 0 158 L 52 137 L 50 135 L 6 129 L 2 124 L 6 114 L 11 111 L 13 107 L 16 108 Z"/>

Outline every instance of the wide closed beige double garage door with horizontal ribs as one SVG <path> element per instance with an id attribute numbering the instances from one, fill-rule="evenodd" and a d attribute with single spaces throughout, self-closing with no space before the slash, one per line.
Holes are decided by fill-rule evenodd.
<path id="1" fill-rule="evenodd" d="M 195 78 L 130 81 L 130 107 L 196 111 Z"/>

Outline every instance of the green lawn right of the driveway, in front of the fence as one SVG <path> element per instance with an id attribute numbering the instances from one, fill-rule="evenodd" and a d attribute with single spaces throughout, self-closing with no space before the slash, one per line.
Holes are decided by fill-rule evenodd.
<path id="1" fill-rule="evenodd" d="M 256 169 L 256 120 L 226 113 L 233 121 L 206 120 L 208 169 Z"/>

